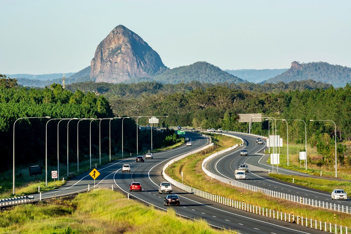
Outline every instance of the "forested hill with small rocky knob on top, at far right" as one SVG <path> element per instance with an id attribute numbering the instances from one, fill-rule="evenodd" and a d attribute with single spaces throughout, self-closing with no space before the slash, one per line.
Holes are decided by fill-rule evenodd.
<path id="1" fill-rule="evenodd" d="M 351 68 L 331 65 L 327 62 L 299 63 L 294 61 L 289 70 L 266 80 L 266 82 L 290 82 L 307 79 L 330 83 L 335 87 L 343 87 L 346 83 L 351 83 Z"/>

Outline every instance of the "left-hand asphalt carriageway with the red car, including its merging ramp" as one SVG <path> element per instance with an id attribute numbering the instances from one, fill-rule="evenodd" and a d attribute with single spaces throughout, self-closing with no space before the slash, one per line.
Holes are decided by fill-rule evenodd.
<path id="1" fill-rule="evenodd" d="M 101 175 L 95 181 L 97 187 L 117 187 L 124 193 L 139 201 L 159 209 L 169 209 L 163 205 L 165 194 L 158 194 L 158 184 L 164 179 L 161 170 L 168 160 L 199 148 L 209 143 L 203 136 L 187 133 L 193 146 L 180 146 L 176 149 L 154 154 L 154 159 L 147 159 L 145 162 L 135 162 L 135 157 L 117 160 L 97 168 Z M 122 164 L 128 163 L 131 166 L 131 173 L 121 172 Z M 129 192 L 129 184 L 140 182 L 143 186 L 142 192 Z M 49 192 L 42 193 L 42 198 L 67 195 L 83 192 L 94 186 L 94 181 L 88 172 L 82 173 L 76 178 L 68 181 L 64 186 Z M 252 214 L 242 210 L 223 206 L 211 202 L 193 194 L 188 194 L 173 186 L 173 193 L 180 197 L 181 205 L 172 207 L 180 216 L 190 219 L 205 219 L 211 226 L 225 229 L 235 229 L 240 233 L 319 233 L 319 230 L 302 227 L 300 225 L 274 220 L 264 216 Z M 34 194 L 35 199 L 39 194 Z"/>

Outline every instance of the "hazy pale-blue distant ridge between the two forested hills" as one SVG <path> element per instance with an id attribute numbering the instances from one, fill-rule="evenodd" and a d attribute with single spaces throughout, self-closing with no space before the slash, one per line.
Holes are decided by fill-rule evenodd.
<path id="1" fill-rule="evenodd" d="M 272 78 L 276 75 L 282 74 L 285 72 L 287 68 L 283 69 L 237 69 L 237 70 L 229 70 L 226 71 L 229 74 L 237 76 L 243 80 L 247 80 L 253 83 L 259 83 L 269 78 Z"/>

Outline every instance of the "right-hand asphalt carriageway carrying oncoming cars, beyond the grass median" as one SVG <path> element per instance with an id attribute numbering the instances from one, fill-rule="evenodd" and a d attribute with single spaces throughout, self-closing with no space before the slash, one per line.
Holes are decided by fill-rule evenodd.
<path id="1" fill-rule="evenodd" d="M 206 169 L 212 173 L 224 176 L 226 178 L 235 179 L 234 171 L 238 169 L 241 163 L 247 163 L 252 165 L 249 167 L 250 171 L 246 173 L 246 180 L 240 180 L 240 182 L 247 183 L 254 186 L 259 186 L 261 188 L 275 190 L 277 192 L 282 192 L 290 195 L 302 196 L 307 199 L 320 200 L 321 202 L 332 202 L 340 204 L 340 206 L 351 206 L 350 200 L 331 200 L 330 193 L 307 188 L 304 186 L 299 186 L 292 183 L 287 183 L 284 181 L 277 180 L 267 175 L 260 168 L 270 169 L 272 171 L 272 166 L 267 165 L 265 162 L 269 155 L 264 155 L 263 151 L 265 145 L 258 145 L 256 143 L 256 136 L 250 136 L 247 134 L 233 134 L 244 140 L 244 145 L 232 152 L 220 155 L 211 161 L 207 162 Z M 247 156 L 240 156 L 240 150 L 247 149 Z M 260 168 L 257 168 L 260 167 Z M 276 171 L 276 166 L 274 167 Z M 297 174 L 303 176 L 309 176 L 304 173 L 294 172 L 284 168 L 278 167 L 278 172 L 284 174 Z M 317 177 L 317 176 L 312 176 Z"/>

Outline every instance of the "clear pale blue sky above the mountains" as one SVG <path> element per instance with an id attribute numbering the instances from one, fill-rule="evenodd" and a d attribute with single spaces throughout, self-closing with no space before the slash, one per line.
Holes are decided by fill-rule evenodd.
<path id="1" fill-rule="evenodd" d="M 77 72 L 122 24 L 170 68 L 351 67 L 351 1 L 0 0 L 0 74 Z"/>

